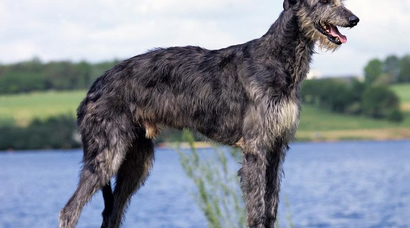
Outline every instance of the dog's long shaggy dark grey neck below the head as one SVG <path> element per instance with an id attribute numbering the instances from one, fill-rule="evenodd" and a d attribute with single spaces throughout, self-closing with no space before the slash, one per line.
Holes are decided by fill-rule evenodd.
<path id="1" fill-rule="evenodd" d="M 309 73 L 315 42 L 301 30 L 296 12 L 293 9 L 283 11 L 260 42 L 266 54 L 282 60 L 292 76 L 291 86 L 300 87 L 300 82 Z"/>

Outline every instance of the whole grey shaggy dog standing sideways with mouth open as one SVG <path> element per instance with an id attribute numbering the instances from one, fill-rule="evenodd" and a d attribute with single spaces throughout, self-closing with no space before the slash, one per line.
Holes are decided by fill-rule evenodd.
<path id="1" fill-rule="evenodd" d="M 337 26 L 359 22 L 341 0 L 285 0 L 283 8 L 269 31 L 248 43 L 155 49 L 99 77 L 78 107 L 84 165 L 59 227 L 74 227 L 101 189 L 101 227 L 121 225 L 152 168 L 158 125 L 239 147 L 248 225 L 274 227 L 281 164 L 298 126 L 300 86 L 315 44 L 336 50 L 346 42 Z"/>

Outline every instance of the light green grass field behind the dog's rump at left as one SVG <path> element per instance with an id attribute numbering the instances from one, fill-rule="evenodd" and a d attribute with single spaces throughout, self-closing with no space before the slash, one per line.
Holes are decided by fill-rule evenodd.
<path id="1" fill-rule="evenodd" d="M 0 96 L 0 123 L 26 126 L 33 118 L 75 114 L 86 91 L 37 92 Z"/>

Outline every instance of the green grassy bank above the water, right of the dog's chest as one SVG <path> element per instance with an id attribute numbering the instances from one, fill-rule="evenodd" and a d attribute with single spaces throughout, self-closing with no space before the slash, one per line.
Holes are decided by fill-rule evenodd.
<path id="1" fill-rule="evenodd" d="M 405 119 L 401 123 L 370 119 L 363 116 L 335 114 L 304 105 L 298 140 L 386 140 L 410 138 L 410 84 L 393 85 L 401 100 Z"/>

